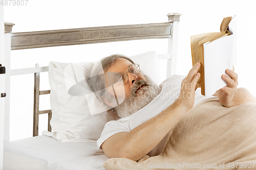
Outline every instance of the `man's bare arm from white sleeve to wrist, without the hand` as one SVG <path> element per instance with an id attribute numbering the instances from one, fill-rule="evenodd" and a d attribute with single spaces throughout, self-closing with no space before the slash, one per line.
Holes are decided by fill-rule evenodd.
<path id="1" fill-rule="evenodd" d="M 101 147 L 110 158 L 139 160 L 153 150 L 186 113 L 173 104 L 130 132 L 120 132 L 106 139 Z"/>

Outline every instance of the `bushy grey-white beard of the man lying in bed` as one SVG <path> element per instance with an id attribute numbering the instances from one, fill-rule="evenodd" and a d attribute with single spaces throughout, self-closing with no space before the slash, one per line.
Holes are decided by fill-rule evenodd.
<path id="1" fill-rule="evenodd" d="M 155 84 L 151 79 L 146 77 L 147 81 L 138 80 L 135 82 L 131 89 L 131 97 L 116 106 L 114 110 L 119 117 L 127 117 L 139 111 L 150 103 L 161 92 L 160 87 Z M 144 85 L 137 91 L 140 85 Z"/>

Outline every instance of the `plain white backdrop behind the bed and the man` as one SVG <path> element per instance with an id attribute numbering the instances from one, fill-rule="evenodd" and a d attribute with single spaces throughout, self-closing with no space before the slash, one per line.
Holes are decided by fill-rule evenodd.
<path id="1" fill-rule="evenodd" d="M 2 1 L 2 0 L 1 0 Z M 237 57 L 235 68 L 239 87 L 245 87 L 256 96 L 256 10 L 254 1 L 60 1 L 29 0 L 27 6 L 5 6 L 5 21 L 15 23 L 13 32 L 71 29 L 111 25 L 167 22 L 166 14 L 181 13 L 179 23 L 177 74 L 186 75 L 192 67 L 190 36 L 219 32 L 223 17 L 237 15 Z M 166 40 L 138 40 L 49 47 L 11 52 L 11 68 L 48 65 L 49 61 L 78 62 L 121 53 L 127 56 L 155 50 L 167 52 Z M 222 62 L 222 61 L 220 61 Z M 218 65 L 217 65 L 218 67 Z M 44 74 L 42 74 L 44 76 Z M 45 78 L 46 79 L 46 78 Z M 47 80 L 47 79 L 46 79 Z M 10 140 L 32 137 L 33 75 L 11 78 Z M 41 89 L 48 89 L 47 83 Z M 48 96 L 44 96 L 48 98 Z M 40 100 L 44 100 L 41 99 Z M 29 101 L 29 104 L 27 104 Z M 46 107 L 46 108 L 44 108 Z M 40 106 L 49 109 L 50 105 Z M 40 115 L 44 120 L 46 116 Z M 44 120 L 45 121 L 45 120 Z M 41 121 L 40 121 L 41 122 Z M 40 123 L 39 134 L 47 130 Z"/>

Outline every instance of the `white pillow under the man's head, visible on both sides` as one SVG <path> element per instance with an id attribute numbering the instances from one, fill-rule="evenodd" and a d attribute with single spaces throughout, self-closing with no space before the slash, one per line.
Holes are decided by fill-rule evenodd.
<path id="1" fill-rule="evenodd" d="M 158 83 L 160 62 L 156 52 L 143 53 L 133 56 L 131 59 L 140 64 L 143 74 Z M 97 99 L 87 83 L 79 83 L 84 82 L 84 75 L 90 75 L 93 64 L 53 61 L 49 63 L 52 109 L 50 124 L 53 132 L 43 131 L 42 134 L 52 136 L 60 142 L 97 140 L 104 125 L 110 120 L 119 118 L 112 110 L 109 110 L 110 107 L 108 108 Z M 83 91 L 82 95 L 81 91 Z M 92 115 L 92 108 L 103 108 L 103 112 Z"/>

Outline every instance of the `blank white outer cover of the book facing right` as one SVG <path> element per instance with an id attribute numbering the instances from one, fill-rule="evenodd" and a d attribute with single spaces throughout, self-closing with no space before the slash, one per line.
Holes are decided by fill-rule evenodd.
<path id="1" fill-rule="evenodd" d="M 233 62 L 233 35 L 204 44 L 205 96 L 227 85 L 221 76 L 227 68 L 233 69 Z"/>

